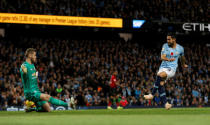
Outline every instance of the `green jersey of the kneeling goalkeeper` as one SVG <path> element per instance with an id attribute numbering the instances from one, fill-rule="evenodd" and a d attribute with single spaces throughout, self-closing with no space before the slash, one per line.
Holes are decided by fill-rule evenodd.
<path id="1" fill-rule="evenodd" d="M 36 71 L 34 64 L 29 64 L 28 62 L 25 61 L 22 65 L 27 68 L 27 73 L 23 73 L 22 68 L 20 68 L 24 93 L 39 92 L 38 82 L 37 82 L 38 72 Z"/>

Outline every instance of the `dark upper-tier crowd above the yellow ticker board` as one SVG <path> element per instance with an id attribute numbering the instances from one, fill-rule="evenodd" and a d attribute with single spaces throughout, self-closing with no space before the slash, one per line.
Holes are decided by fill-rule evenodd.
<path id="1" fill-rule="evenodd" d="M 0 12 L 209 22 L 207 0 L 1 0 Z"/>

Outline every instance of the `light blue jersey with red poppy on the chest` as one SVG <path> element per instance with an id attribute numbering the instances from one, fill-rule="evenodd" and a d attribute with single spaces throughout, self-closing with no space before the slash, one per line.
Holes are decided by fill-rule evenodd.
<path id="1" fill-rule="evenodd" d="M 171 48 L 168 46 L 168 43 L 163 44 L 161 55 L 166 54 L 168 59 L 175 58 L 175 61 L 162 61 L 160 65 L 161 68 L 171 68 L 171 70 L 176 71 L 178 67 L 178 59 L 180 56 L 184 56 L 184 48 L 176 43 L 176 48 Z"/>

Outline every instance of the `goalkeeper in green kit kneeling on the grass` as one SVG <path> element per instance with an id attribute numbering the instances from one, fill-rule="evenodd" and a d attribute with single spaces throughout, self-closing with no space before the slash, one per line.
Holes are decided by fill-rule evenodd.
<path id="1" fill-rule="evenodd" d="M 33 101 L 35 103 L 34 108 L 28 106 L 26 112 L 29 111 L 42 111 L 50 112 L 50 104 L 68 107 L 68 103 L 55 99 L 48 94 L 41 93 L 38 88 L 38 72 L 35 69 L 34 63 L 36 63 L 36 50 L 29 48 L 25 52 L 26 61 L 21 65 L 20 74 L 24 88 L 24 96 L 26 100 Z"/>

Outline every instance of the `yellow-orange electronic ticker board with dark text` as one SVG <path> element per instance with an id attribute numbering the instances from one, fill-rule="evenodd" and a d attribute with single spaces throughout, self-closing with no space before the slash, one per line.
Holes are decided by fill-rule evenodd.
<path id="1" fill-rule="evenodd" d="M 0 23 L 122 28 L 121 18 L 0 13 Z"/>

